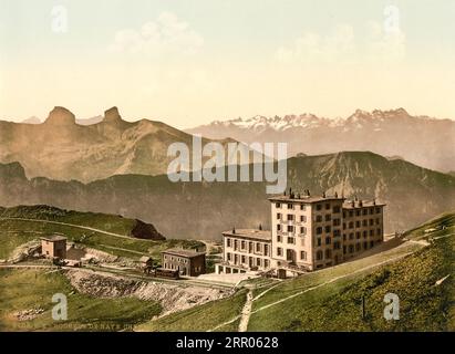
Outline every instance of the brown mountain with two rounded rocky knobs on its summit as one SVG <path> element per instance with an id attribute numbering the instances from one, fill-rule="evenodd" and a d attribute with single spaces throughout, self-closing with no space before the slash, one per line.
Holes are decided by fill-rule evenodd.
<path id="1" fill-rule="evenodd" d="M 52 110 L 41 124 L 0 121 L 0 163 L 20 162 L 29 177 L 92 181 L 165 174 L 175 158 L 167 156 L 172 143 L 193 148 L 190 134 L 155 121 L 125 122 L 116 107 L 89 121 L 77 124 L 81 121 L 64 107 Z M 203 138 L 204 145 L 209 142 Z M 219 140 L 225 147 L 229 142 Z"/>

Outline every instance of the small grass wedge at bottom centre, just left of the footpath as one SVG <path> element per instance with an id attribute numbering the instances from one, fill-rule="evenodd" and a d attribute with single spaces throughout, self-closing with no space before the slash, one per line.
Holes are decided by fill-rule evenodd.
<path id="1" fill-rule="evenodd" d="M 162 319 L 151 321 L 137 326 L 137 331 L 189 331 L 203 332 L 216 327 L 240 314 L 246 300 L 246 290 L 240 290 L 230 298 L 213 301 L 178 313 L 173 313 Z M 235 331 L 238 322 L 221 330 Z"/>

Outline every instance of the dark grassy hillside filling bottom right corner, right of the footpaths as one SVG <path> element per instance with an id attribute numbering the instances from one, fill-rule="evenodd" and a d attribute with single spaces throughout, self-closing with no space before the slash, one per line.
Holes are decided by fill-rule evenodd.
<path id="1" fill-rule="evenodd" d="M 425 238 L 424 230 L 445 225 L 432 233 L 432 246 L 369 274 L 344 278 L 251 315 L 249 331 L 454 331 L 455 216 L 446 215 L 409 232 Z M 427 238 L 427 237 L 426 237 Z M 451 274 L 441 285 L 437 280 Z M 304 278 L 292 283 L 302 283 Z M 302 284 L 303 285 L 303 284 Z M 276 288 L 279 291 L 279 288 Z M 400 296 L 401 319 L 385 321 L 386 293 Z M 273 296 L 272 291 L 270 296 Z M 366 316 L 361 316 L 365 296 Z M 263 296 L 263 302 L 269 301 Z M 260 302 L 256 303 L 260 308 Z"/>

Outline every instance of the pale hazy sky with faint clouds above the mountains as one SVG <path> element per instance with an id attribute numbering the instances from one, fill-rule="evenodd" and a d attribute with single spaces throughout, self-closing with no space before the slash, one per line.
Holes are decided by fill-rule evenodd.
<path id="1" fill-rule="evenodd" d="M 0 0 L 0 118 L 454 118 L 454 44 L 447 0 Z"/>

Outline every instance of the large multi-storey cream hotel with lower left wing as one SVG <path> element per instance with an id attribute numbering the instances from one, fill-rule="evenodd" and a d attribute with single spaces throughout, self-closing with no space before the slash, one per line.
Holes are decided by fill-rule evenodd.
<path id="1" fill-rule="evenodd" d="M 383 208 L 373 201 L 311 196 L 309 190 L 269 198 L 271 231 L 223 232 L 218 273 L 276 272 L 279 277 L 341 263 L 383 242 Z"/>

